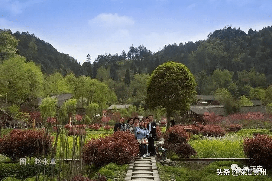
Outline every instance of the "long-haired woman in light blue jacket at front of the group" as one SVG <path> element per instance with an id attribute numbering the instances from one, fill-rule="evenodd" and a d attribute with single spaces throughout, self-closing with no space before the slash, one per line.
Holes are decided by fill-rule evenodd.
<path id="1" fill-rule="evenodd" d="M 148 138 L 149 134 L 146 128 L 146 125 L 144 123 L 144 120 L 140 121 L 140 126 L 137 127 L 137 140 L 142 138 Z M 144 159 L 143 155 L 147 152 L 147 145 L 146 144 L 140 144 L 140 159 Z"/>

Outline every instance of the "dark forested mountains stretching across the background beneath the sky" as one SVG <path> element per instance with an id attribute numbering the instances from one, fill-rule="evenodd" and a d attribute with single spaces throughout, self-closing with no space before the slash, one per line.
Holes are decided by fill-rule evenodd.
<path id="1" fill-rule="evenodd" d="M 93 63 L 88 54 L 82 65 L 34 34 L 17 31 L 11 35 L 20 40 L 17 53 L 41 65 L 46 74 L 57 71 L 63 76 L 70 72 L 76 77 L 90 76 L 115 91 L 119 103 L 144 106 L 148 75 L 167 61 L 180 62 L 189 68 L 196 78 L 198 94 L 215 94 L 218 88 L 226 88 L 236 98 L 245 95 L 261 99 L 252 90 L 264 90 L 272 84 L 271 32 L 270 26 L 247 33 L 240 28 L 224 27 L 209 33 L 206 40 L 173 43 L 158 52 L 151 52 L 144 45 L 131 45 L 128 52 L 123 50 L 120 55 L 105 52 Z"/>

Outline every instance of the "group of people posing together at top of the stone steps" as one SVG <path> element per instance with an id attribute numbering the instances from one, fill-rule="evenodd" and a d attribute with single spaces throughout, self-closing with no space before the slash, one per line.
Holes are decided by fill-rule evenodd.
<path id="1" fill-rule="evenodd" d="M 124 122 L 125 118 L 121 117 L 119 122 L 114 125 L 113 131 L 129 131 L 135 135 L 135 139 L 137 140 L 147 138 L 148 146 L 140 144 L 140 159 L 144 159 L 144 157 L 156 157 L 154 141 L 156 139 L 157 124 L 153 121 L 153 115 L 150 114 L 145 120 L 135 117 L 129 118 L 126 124 Z"/>

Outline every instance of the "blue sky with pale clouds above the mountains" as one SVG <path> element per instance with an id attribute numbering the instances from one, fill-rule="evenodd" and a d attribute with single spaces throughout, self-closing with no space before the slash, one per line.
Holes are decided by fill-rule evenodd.
<path id="1" fill-rule="evenodd" d="M 245 33 L 272 25 L 271 0 L 0 0 L 0 29 L 28 31 L 81 64 L 86 56 L 158 52 L 206 40 L 231 25 Z"/>

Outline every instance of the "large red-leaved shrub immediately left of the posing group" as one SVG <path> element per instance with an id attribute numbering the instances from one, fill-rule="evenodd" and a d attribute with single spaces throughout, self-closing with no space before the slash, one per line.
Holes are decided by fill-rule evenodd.
<path id="1" fill-rule="evenodd" d="M 84 148 L 85 161 L 91 164 L 92 158 L 96 166 L 108 164 L 128 164 L 139 153 L 139 143 L 134 134 L 115 132 L 98 139 L 91 139 Z"/>

